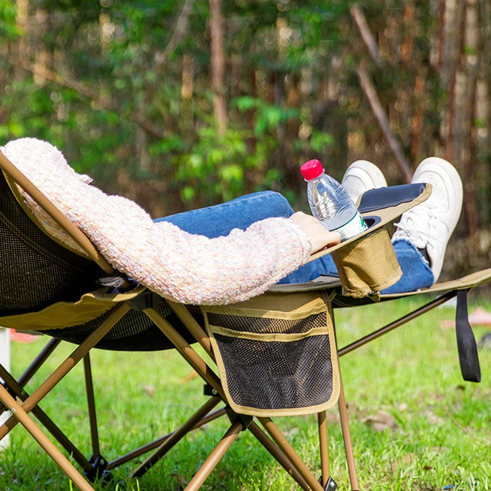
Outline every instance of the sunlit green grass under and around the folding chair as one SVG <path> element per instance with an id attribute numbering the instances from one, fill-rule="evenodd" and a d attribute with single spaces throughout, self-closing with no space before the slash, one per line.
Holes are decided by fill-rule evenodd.
<path id="1" fill-rule="evenodd" d="M 404 315 L 424 299 L 399 300 L 338 310 L 340 346 L 374 327 Z M 471 305 L 471 308 L 478 303 Z M 484 306 L 490 305 L 484 304 Z M 483 381 L 463 382 L 457 359 L 455 331 L 439 327 L 453 308 L 435 309 L 341 359 L 351 431 L 361 490 L 491 490 L 491 351 L 481 351 Z M 479 339 L 485 332 L 475 329 Z M 12 346 L 12 372 L 19 375 L 39 352 L 44 338 Z M 60 345 L 33 381 L 32 391 L 73 346 Z M 198 379 L 180 382 L 189 366 L 174 352 L 111 353 L 93 351 L 96 404 L 102 453 L 121 453 L 175 429 L 205 400 Z M 41 407 L 73 437 L 84 454 L 90 435 L 84 399 L 82 364 L 55 388 Z M 150 396 L 144 386 L 155 387 Z M 445 411 L 447 409 L 448 413 Z M 376 432 L 361 420 L 384 409 L 396 427 Z M 331 474 L 340 490 L 350 489 L 337 410 L 329 411 Z M 276 420 L 294 448 L 316 475 L 320 474 L 314 416 Z M 463 429 L 461 429 L 461 427 Z M 125 482 L 134 468 L 114 472 L 113 491 L 175 491 L 191 479 L 227 428 L 221 418 L 194 431 L 137 483 Z M 0 490 L 70 490 L 55 464 L 17 427 L 11 447 L 0 455 Z M 141 461 L 140 461 L 141 462 Z M 297 487 L 247 432 L 227 452 L 203 486 L 204 490 L 294 490 Z"/>

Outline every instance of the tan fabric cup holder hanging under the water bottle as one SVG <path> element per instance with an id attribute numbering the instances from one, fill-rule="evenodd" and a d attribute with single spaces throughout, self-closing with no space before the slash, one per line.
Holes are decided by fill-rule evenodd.
<path id="1" fill-rule="evenodd" d="M 380 300 L 380 291 L 402 276 L 385 227 L 334 251 L 332 258 L 343 285 L 343 295 Z"/>

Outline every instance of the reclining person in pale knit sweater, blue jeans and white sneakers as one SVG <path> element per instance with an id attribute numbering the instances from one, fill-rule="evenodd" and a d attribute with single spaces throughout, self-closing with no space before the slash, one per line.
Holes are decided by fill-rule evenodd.
<path id="1" fill-rule="evenodd" d="M 337 274 L 330 255 L 305 263 L 311 253 L 338 244 L 339 234 L 316 218 L 294 213 L 277 192 L 257 192 L 152 221 L 136 203 L 91 186 L 91 179 L 77 174 L 47 142 L 21 138 L 0 150 L 114 268 L 163 297 L 226 304 L 259 295 L 277 282 L 303 283 Z M 382 293 L 431 286 L 460 216 L 462 183 L 451 164 L 426 159 L 412 182 L 431 183 L 433 192 L 397 224 L 392 243 L 403 276 Z M 356 201 L 363 191 L 386 182 L 374 164 L 358 161 L 348 167 L 342 185 Z M 66 233 L 27 194 L 24 197 L 45 229 L 73 248 Z"/>

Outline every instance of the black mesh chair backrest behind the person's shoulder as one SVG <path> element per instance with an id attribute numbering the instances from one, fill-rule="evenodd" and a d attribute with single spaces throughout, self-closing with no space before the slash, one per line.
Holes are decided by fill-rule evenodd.
<path id="1" fill-rule="evenodd" d="M 33 222 L 0 170 L 0 316 L 79 300 L 97 288 L 103 273 L 96 262 L 61 246 Z"/>

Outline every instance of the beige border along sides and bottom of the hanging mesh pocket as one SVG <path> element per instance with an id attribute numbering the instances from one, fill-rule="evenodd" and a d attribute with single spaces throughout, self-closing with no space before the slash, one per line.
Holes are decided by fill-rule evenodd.
<path id="1" fill-rule="evenodd" d="M 286 295 L 287 297 L 287 295 Z M 252 299 L 253 300 L 253 299 Z M 250 300 L 247 300 L 250 301 Z M 330 354 L 331 354 L 331 366 L 332 366 L 332 392 L 329 400 L 324 403 L 320 404 L 317 406 L 311 406 L 308 408 L 285 408 L 285 409 L 254 409 L 254 408 L 249 408 L 246 406 L 239 406 L 234 403 L 230 391 L 228 389 L 228 384 L 227 384 L 227 374 L 225 371 L 225 366 L 223 364 L 223 359 L 220 354 L 220 350 L 218 349 L 218 343 L 217 340 L 215 339 L 213 335 L 213 330 L 212 327 L 210 326 L 208 322 L 208 316 L 207 316 L 207 311 L 211 311 L 212 309 L 215 309 L 216 307 L 211 307 L 211 306 L 200 306 L 201 313 L 203 314 L 204 322 L 205 322 L 205 329 L 206 332 L 210 338 L 210 343 L 213 349 L 213 353 L 215 355 L 216 363 L 218 366 L 218 373 L 220 376 L 221 384 L 223 387 L 223 391 L 225 393 L 226 397 L 226 403 L 230 406 L 230 408 L 237 412 L 238 414 L 246 414 L 250 416 L 258 416 L 258 417 L 278 417 L 278 416 L 300 416 L 303 414 L 314 414 L 316 412 L 324 411 L 326 409 L 332 408 L 338 401 L 339 399 L 339 390 L 340 390 L 340 383 L 339 383 L 339 363 L 338 363 L 338 358 L 337 358 L 337 348 L 336 348 L 336 341 L 335 341 L 335 336 L 334 336 L 334 326 L 332 323 L 332 307 L 329 304 L 325 304 L 324 311 L 326 311 L 326 320 L 327 320 L 327 328 L 326 328 L 326 333 L 328 334 L 329 337 L 329 349 L 330 349 Z M 230 309 L 230 307 L 229 307 Z M 237 311 L 240 312 L 240 308 L 236 308 Z M 246 312 L 248 312 L 250 309 L 246 309 Z M 243 315 L 242 313 L 240 315 Z M 307 316 L 305 316 L 307 317 Z M 216 328 L 216 327 L 213 327 Z M 233 331 L 234 336 L 237 336 L 237 332 Z M 323 333 L 325 334 L 325 333 Z M 264 335 L 263 335 L 264 336 Z M 238 337 L 238 336 L 237 336 Z"/>

